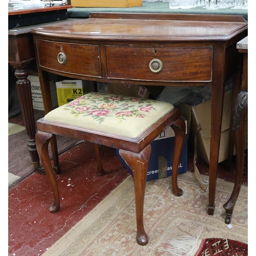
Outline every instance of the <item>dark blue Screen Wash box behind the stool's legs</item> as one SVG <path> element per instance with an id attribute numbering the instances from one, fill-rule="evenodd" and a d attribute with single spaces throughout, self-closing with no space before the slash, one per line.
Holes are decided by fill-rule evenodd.
<path id="1" fill-rule="evenodd" d="M 186 136 L 180 158 L 178 174 L 187 172 L 187 120 L 186 123 Z M 150 161 L 148 162 L 147 181 L 156 180 L 172 176 L 172 165 L 174 155 L 175 135 L 174 130 L 168 127 L 162 134 L 159 135 L 151 143 Z M 131 168 L 125 163 L 116 149 L 118 158 L 122 161 L 126 169 L 131 175 Z"/>

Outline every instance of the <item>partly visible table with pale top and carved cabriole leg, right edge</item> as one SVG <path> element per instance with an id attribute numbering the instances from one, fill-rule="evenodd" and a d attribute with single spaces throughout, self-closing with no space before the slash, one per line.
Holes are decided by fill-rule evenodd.
<path id="1" fill-rule="evenodd" d="M 243 53 L 243 73 L 242 84 L 233 111 L 233 133 L 236 145 L 236 181 L 232 194 L 228 201 L 223 205 L 226 210 L 225 223 L 231 222 L 233 207 L 238 199 L 244 172 L 244 118 L 248 108 L 248 36 L 237 43 L 238 52 Z"/>

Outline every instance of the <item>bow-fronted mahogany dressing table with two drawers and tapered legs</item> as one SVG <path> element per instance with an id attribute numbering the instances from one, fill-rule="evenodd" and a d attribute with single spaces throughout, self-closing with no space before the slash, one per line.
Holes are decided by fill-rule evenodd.
<path id="1" fill-rule="evenodd" d="M 48 72 L 76 79 L 158 86 L 211 86 L 208 214 L 215 209 L 225 81 L 247 35 L 242 15 L 91 13 L 31 30 L 45 111 Z"/>

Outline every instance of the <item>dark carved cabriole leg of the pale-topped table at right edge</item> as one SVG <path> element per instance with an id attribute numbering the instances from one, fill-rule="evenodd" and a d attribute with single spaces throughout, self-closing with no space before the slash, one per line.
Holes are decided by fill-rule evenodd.
<path id="1" fill-rule="evenodd" d="M 233 207 L 236 203 L 243 179 L 243 172 L 244 172 L 244 117 L 245 112 L 248 106 L 248 93 L 247 92 L 240 92 L 235 106 L 234 106 L 234 124 L 233 124 L 233 131 L 234 131 L 234 142 L 236 145 L 236 181 L 234 182 L 234 187 L 232 194 L 228 201 L 223 205 L 224 209 L 226 210 L 226 218 L 225 223 L 229 224 L 231 222 L 231 216 L 233 213 Z"/>

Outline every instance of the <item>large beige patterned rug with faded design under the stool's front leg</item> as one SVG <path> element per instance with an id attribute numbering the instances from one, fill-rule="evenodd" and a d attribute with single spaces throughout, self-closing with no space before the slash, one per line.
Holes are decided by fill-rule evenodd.
<path id="1" fill-rule="evenodd" d="M 207 176 L 202 175 L 202 179 L 207 183 Z M 231 194 L 233 183 L 218 179 L 215 214 L 208 216 L 208 193 L 200 187 L 194 173 L 178 176 L 178 184 L 183 189 L 181 197 L 172 195 L 170 182 L 171 177 L 146 183 L 144 227 L 149 237 L 146 246 L 136 243 L 134 186 L 133 178 L 129 176 L 43 255 L 247 255 L 246 252 L 214 252 L 215 248 L 220 248 L 220 243 L 223 248 L 227 247 L 227 242 L 230 246 L 232 241 L 245 246 L 248 243 L 247 186 L 242 185 L 232 228 L 228 228 L 224 222 L 223 204 Z"/>

